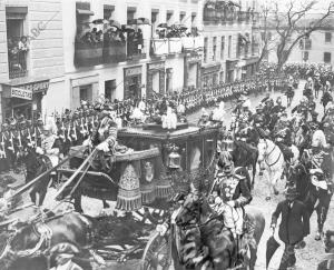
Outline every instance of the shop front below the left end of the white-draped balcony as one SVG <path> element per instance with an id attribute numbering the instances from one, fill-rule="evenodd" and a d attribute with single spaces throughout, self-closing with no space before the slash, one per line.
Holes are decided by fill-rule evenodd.
<path id="1" fill-rule="evenodd" d="M 147 97 L 150 97 L 153 92 L 165 94 L 165 73 L 164 61 L 147 64 Z"/>

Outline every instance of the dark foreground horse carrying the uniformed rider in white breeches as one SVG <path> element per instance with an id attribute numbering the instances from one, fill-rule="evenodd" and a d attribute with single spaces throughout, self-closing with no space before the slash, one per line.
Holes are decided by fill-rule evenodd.
<path id="1" fill-rule="evenodd" d="M 258 209 L 253 207 L 246 208 L 246 213 L 249 223 L 254 224 L 253 236 L 256 244 L 248 244 L 250 258 L 245 259 L 245 264 L 254 270 L 257 244 L 265 229 L 265 218 Z M 224 228 L 222 218 L 215 217 L 206 198 L 189 193 L 176 217 L 176 224 L 181 232 L 179 251 L 181 258 L 186 258 L 183 260 L 184 264 L 189 267 L 195 264 L 195 269 L 202 267 L 200 269 L 215 270 L 225 270 L 236 266 L 237 247 L 233 234 L 230 230 Z M 199 228 L 197 231 L 199 236 L 196 236 L 196 231 L 193 234 L 187 233 L 187 230 L 194 230 L 193 228 Z M 186 239 L 185 236 L 189 237 L 190 240 Z M 200 247 L 196 246 L 195 248 L 202 256 L 198 257 L 197 252 L 194 252 L 194 247 L 187 244 L 191 242 L 191 239 L 200 240 Z M 191 253 L 193 256 L 189 256 Z"/>

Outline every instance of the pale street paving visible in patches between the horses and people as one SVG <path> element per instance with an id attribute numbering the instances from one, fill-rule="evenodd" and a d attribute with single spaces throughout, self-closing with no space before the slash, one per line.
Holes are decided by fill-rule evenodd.
<path id="1" fill-rule="evenodd" d="M 296 91 L 292 107 L 297 104 L 298 100 L 302 98 L 303 87 L 304 87 L 304 82 L 301 83 L 299 89 Z M 262 96 L 258 96 L 258 97 L 254 97 L 254 96 L 250 97 L 253 108 L 255 108 L 258 104 L 259 100 L 263 99 L 264 96 L 265 96 L 265 93 Z M 276 99 L 276 97 L 278 97 L 278 96 L 283 97 L 283 93 L 281 93 L 281 92 L 272 93 L 272 97 L 274 99 Z M 283 102 L 284 103 L 286 102 L 285 97 L 283 98 Z M 229 104 L 230 104 L 230 102 L 227 102 L 225 108 L 228 108 Z M 208 110 L 210 110 L 210 109 L 213 109 L 213 108 L 208 108 Z M 321 113 L 322 107 L 320 107 L 317 104 L 317 109 L 318 109 L 318 112 Z M 188 119 L 190 122 L 197 122 L 199 117 L 200 117 L 200 111 L 193 113 L 191 116 L 189 116 Z M 230 119 L 230 113 L 227 112 L 226 113 L 226 122 L 227 123 L 228 123 L 229 119 Z M 284 181 L 281 181 L 278 183 L 278 188 L 281 191 L 284 189 L 284 184 L 285 184 Z M 284 196 L 279 194 L 276 198 L 273 198 L 272 201 L 267 202 L 264 199 L 265 191 L 266 191 L 266 184 L 264 183 L 264 181 L 262 179 L 257 178 L 256 183 L 255 183 L 254 193 L 253 193 L 254 199 L 252 201 L 252 206 L 261 208 L 262 211 L 264 212 L 265 218 L 266 218 L 266 229 L 265 229 L 265 233 L 264 233 L 262 241 L 259 243 L 259 247 L 258 247 L 258 252 L 257 252 L 258 259 L 257 259 L 257 263 L 256 263 L 256 270 L 265 270 L 265 243 L 266 243 L 267 239 L 271 237 L 271 230 L 269 230 L 271 216 L 272 216 L 272 212 L 274 211 L 277 202 L 279 200 L 284 199 Z M 48 200 L 46 202 L 46 207 L 52 208 L 55 206 L 55 201 L 51 199 L 53 197 L 55 192 L 56 192 L 55 189 L 49 190 L 49 192 L 47 194 Z M 90 216 L 98 216 L 102 212 L 102 203 L 100 200 L 84 198 L 82 199 L 82 208 L 84 208 L 85 212 Z M 327 222 L 325 224 L 325 229 L 334 228 L 334 214 L 333 214 L 334 209 L 333 208 L 334 208 L 334 204 L 332 201 Z M 323 249 L 321 242 L 317 242 L 314 240 L 315 231 L 316 231 L 316 218 L 315 218 L 315 216 L 313 216 L 312 220 L 311 220 L 311 236 L 308 236 L 306 238 L 306 244 L 307 244 L 306 248 L 304 250 L 297 251 L 297 264 L 296 264 L 295 269 L 301 269 L 301 270 L 316 269 L 316 266 L 320 261 L 320 258 L 322 257 L 322 254 L 324 252 L 324 249 Z M 277 236 L 276 236 L 276 239 L 278 240 Z M 281 248 L 277 250 L 275 257 L 273 258 L 272 263 L 269 266 L 271 270 L 278 268 L 282 253 L 283 253 L 283 246 L 281 246 Z M 120 270 L 120 267 L 109 268 L 109 269 Z M 173 268 L 170 268 L 170 270 L 173 270 Z"/>

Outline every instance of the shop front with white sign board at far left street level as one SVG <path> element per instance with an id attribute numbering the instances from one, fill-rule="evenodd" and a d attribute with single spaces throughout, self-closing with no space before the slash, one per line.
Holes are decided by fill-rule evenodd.
<path id="1" fill-rule="evenodd" d="M 40 116 L 48 89 L 49 80 L 2 84 L 2 120 L 19 116 L 31 120 Z"/>

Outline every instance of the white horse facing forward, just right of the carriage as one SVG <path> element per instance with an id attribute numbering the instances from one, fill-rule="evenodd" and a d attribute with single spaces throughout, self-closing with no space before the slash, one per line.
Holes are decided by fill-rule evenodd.
<path id="1" fill-rule="evenodd" d="M 269 200 L 272 194 L 278 194 L 276 183 L 284 172 L 285 161 L 281 149 L 268 139 L 261 139 L 257 144 L 261 172 L 267 180 L 268 194 L 266 200 Z"/>

